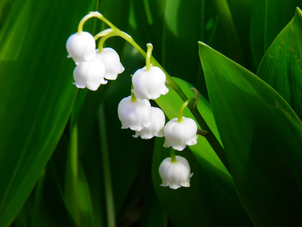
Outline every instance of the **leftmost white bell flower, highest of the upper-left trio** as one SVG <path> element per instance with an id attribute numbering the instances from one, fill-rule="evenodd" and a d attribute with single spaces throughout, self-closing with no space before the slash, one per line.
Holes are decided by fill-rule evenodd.
<path id="1" fill-rule="evenodd" d="M 95 40 L 87 31 L 69 36 L 66 42 L 66 49 L 68 52 L 67 58 L 72 58 L 76 65 L 82 61 L 95 59 Z"/>

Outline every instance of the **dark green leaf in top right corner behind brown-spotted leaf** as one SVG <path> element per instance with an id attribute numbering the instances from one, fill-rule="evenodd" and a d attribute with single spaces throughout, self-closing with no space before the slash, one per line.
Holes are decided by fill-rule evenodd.
<path id="1" fill-rule="evenodd" d="M 302 8 L 300 0 L 266 0 L 264 51 L 291 20 L 296 7 Z"/>

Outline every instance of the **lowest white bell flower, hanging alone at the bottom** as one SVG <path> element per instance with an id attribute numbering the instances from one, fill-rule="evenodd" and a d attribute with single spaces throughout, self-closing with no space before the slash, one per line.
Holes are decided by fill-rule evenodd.
<path id="1" fill-rule="evenodd" d="M 190 187 L 190 165 L 188 161 L 181 156 L 175 156 L 176 162 L 171 162 L 171 158 L 166 158 L 159 166 L 159 175 L 162 179 L 160 186 L 169 186 L 172 189 L 178 189 L 181 186 Z"/>

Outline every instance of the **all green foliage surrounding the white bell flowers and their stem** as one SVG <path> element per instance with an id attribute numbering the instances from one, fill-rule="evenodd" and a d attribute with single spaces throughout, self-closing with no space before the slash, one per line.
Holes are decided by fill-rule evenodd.
<path id="1" fill-rule="evenodd" d="M 0 1 L 0 226 L 302 225 L 301 0 Z M 97 91 L 72 85 L 69 35 L 101 12 L 153 57 L 225 150 L 204 137 L 188 159 L 190 188 L 160 187 L 163 138 L 121 130 L 117 105 L 144 66 L 114 37 L 125 67 Z M 97 19 L 84 30 L 107 28 Z M 198 42 L 199 41 L 199 42 Z M 167 120 L 183 101 L 153 106 Z M 185 117 L 194 118 L 186 109 Z"/>

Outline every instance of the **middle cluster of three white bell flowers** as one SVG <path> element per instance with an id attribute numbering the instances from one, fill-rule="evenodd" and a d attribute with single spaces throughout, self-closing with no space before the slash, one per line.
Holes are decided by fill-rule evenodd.
<path id="1" fill-rule="evenodd" d="M 134 130 L 133 137 L 151 139 L 164 136 L 165 114 L 161 109 L 151 107 L 148 99 L 168 93 L 165 81 L 165 73 L 155 66 L 150 66 L 149 70 L 143 67 L 133 74 L 131 96 L 122 99 L 117 107 L 122 129 Z"/>

